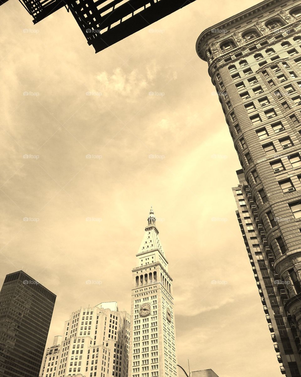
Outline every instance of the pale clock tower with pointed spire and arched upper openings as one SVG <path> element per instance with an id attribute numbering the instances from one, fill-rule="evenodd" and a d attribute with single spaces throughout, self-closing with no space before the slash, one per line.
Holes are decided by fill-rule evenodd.
<path id="1" fill-rule="evenodd" d="M 176 377 L 172 278 L 152 208 L 132 270 L 129 376 Z"/>

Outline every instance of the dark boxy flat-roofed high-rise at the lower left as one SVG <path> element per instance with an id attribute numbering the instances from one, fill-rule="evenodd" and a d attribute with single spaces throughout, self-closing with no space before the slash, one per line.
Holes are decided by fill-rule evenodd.
<path id="1" fill-rule="evenodd" d="M 23 271 L 0 291 L 0 376 L 38 377 L 56 295 Z"/>

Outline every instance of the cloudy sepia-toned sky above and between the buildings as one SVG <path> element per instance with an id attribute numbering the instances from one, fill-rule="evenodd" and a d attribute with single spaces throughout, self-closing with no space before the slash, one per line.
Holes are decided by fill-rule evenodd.
<path id="1" fill-rule="evenodd" d="M 178 363 L 280 376 L 235 215 L 240 164 L 195 52 L 255 3 L 197 0 L 98 54 L 64 8 L 33 25 L 17 0 L 1 6 L 0 284 L 22 269 L 57 295 L 47 345 L 81 306 L 130 311 L 152 205 Z"/>

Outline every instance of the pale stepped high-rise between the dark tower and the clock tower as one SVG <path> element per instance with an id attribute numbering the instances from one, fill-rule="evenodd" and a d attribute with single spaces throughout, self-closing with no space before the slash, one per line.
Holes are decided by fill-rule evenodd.
<path id="1" fill-rule="evenodd" d="M 129 314 L 116 302 L 74 311 L 59 350 L 46 352 L 41 377 L 127 377 L 129 331 Z"/>

